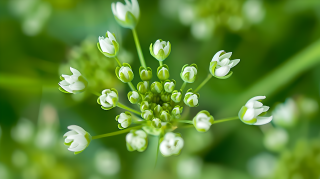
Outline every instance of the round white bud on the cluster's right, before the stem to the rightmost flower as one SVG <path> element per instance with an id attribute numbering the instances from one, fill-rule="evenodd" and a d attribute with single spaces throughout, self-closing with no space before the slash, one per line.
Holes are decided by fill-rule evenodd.
<path id="1" fill-rule="evenodd" d="M 194 118 L 193 118 L 193 125 L 199 132 L 206 132 L 210 129 L 211 125 L 213 124 L 214 119 L 210 115 L 208 111 L 200 111 Z"/>

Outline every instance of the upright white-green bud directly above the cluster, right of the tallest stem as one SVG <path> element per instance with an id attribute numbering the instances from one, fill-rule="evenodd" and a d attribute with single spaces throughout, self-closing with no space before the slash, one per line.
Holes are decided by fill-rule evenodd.
<path id="1" fill-rule="evenodd" d="M 150 44 L 150 54 L 157 59 L 158 61 L 164 61 L 171 52 L 170 42 L 162 41 L 161 39 L 157 40 L 154 45 Z"/>

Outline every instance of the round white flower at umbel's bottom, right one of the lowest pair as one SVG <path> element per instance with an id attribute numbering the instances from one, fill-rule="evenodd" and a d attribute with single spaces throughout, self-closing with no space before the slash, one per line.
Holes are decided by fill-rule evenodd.
<path id="1" fill-rule="evenodd" d="M 163 156 L 168 157 L 170 155 L 178 155 L 183 147 L 183 139 L 180 134 L 168 132 L 163 137 L 163 141 L 160 143 L 160 152 Z"/>

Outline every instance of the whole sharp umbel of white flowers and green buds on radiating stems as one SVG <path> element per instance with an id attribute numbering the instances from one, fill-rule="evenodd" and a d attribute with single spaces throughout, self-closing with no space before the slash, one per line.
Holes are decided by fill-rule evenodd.
<path id="1" fill-rule="evenodd" d="M 170 70 L 172 67 L 164 64 L 165 60 L 170 60 L 171 43 L 164 40 L 156 40 L 151 43 L 150 54 L 159 61 L 159 67 L 152 70 L 146 65 L 143 57 L 138 35 L 135 30 L 139 22 L 140 10 L 137 0 L 131 2 L 126 0 L 126 4 L 121 2 L 112 3 L 112 12 L 116 21 L 125 28 L 133 32 L 138 56 L 141 66 L 139 74 L 134 74 L 131 66 L 121 63 L 117 58 L 119 44 L 116 36 L 111 32 L 106 33 L 106 37 L 99 37 L 98 50 L 108 58 L 114 58 L 118 64 L 115 68 L 116 76 L 123 83 L 127 83 L 131 91 L 126 96 L 119 96 L 116 89 L 104 89 L 97 98 L 97 103 L 103 110 L 111 110 L 119 107 L 125 111 L 115 116 L 115 125 L 120 131 L 92 136 L 79 126 L 69 126 L 69 131 L 65 134 L 66 145 L 75 154 L 82 152 L 91 140 L 127 133 L 125 137 L 129 151 L 143 152 L 148 147 L 148 136 L 159 137 L 158 151 L 163 156 L 178 155 L 183 146 L 182 136 L 175 133 L 180 127 L 194 126 L 199 132 L 206 132 L 211 125 L 230 120 L 240 119 L 245 124 L 263 125 L 272 120 L 270 117 L 262 117 L 269 107 L 264 106 L 260 100 L 265 96 L 257 96 L 250 99 L 240 110 L 238 116 L 215 120 L 214 117 L 205 110 L 199 110 L 198 114 L 188 119 L 188 115 L 183 115 L 184 108 L 195 108 L 199 106 L 200 94 L 198 91 L 212 78 L 227 79 L 231 77 L 231 68 L 236 66 L 240 60 L 230 60 L 231 52 L 223 50 L 217 52 L 212 61 L 208 60 L 208 76 L 194 90 L 187 89 L 187 85 L 194 83 L 197 79 L 198 67 L 196 64 L 186 64 L 182 67 L 180 79 L 172 79 Z M 81 73 L 70 68 L 72 76 L 62 75 L 59 88 L 65 93 L 79 93 L 84 91 L 88 82 L 82 77 Z M 204 69 L 201 69 L 204 70 Z M 151 81 L 152 76 L 156 75 L 158 80 Z M 134 85 L 133 78 L 139 78 L 141 82 Z M 176 81 L 183 83 L 180 87 Z M 90 83 L 89 83 L 90 85 Z M 128 107 L 119 102 L 119 98 L 127 98 L 133 107 Z M 123 99 L 122 99 L 123 100 Z M 239 107 L 240 108 L 240 107 Z"/>

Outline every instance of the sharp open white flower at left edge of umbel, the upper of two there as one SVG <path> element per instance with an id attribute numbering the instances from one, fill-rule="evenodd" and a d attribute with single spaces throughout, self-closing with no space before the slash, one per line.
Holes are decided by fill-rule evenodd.
<path id="1" fill-rule="evenodd" d="M 59 85 L 63 92 L 66 93 L 79 93 L 83 92 L 88 86 L 87 80 L 81 75 L 81 73 L 70 67 L 72 75 L 61 75 L 62 81 L 59 82 Z"/>

